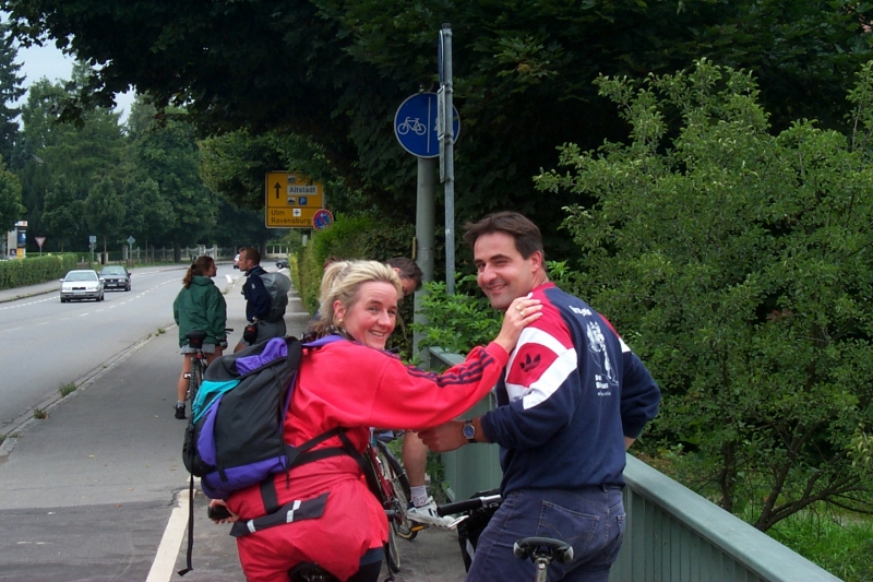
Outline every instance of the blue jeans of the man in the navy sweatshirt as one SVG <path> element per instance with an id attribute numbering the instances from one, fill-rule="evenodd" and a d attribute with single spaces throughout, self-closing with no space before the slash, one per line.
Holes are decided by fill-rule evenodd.
<path id="1" fill-rule="evenodd" d="M 506 495 L 485 528 L 466 582 L 530 582 L 535 567 L 512 553 L 523 537 L 554 537 L 573 546 L 573 561 L 552 562 L 549 582 L 607 582 L 624 537 L 621 488 L 523 489 Z"/>

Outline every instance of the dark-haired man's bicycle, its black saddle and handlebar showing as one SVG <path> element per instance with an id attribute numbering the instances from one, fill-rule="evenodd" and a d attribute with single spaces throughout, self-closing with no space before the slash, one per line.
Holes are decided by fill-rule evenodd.
<path id="1" fill-rule="evenodd" d="M 467 571 L 473 563 L 473 556 L 479 542 L 479 534 L 485 530 L 491 516 L 500 508 L 503 498 L 494 490 L 480 491 L 473 498 L 445 503 L 436 507 L 436 513 L 445 516 L 463 513 L 453 525 L 457 526 L 464 567 Z M 561 563 L 573 561 L 573 547 L 561 539 L 552 537 L 523 537 L 513 544 L 513 554 L 518 559 L 529 558 L 536 566 L 536 582 L 546 582 L 548 567 L 554 560 Z"/>

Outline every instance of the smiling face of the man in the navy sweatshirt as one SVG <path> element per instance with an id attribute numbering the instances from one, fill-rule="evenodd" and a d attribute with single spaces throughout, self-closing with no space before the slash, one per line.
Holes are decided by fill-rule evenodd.
<path id="1" fill-rule="evenodd" d="M 479 287 L 491 307 L 505 311 L 513 299 L 523 297 L 542 281 L 542 254 L 527 259 L 515 249 L 515 239 L 505 233 L 481 235 L 473 247 Z"/>

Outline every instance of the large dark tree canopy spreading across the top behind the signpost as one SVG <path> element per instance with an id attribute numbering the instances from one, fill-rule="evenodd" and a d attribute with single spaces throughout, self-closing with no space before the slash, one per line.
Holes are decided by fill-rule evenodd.
<path id="1" fill-rule="evenodd" d="M 158 106 L 184 106 L 203 132 L 249 129 L 310 140 L 366 206 L 415 216 L 416 163 L 396 143 L 403 98 L 436 88 L 435 41 L 453 24 L 458 222 L 526 212 L 550 248 L 564 192 L 543 204 L 529 177 L 565 142 L 595 147 L 622 132 L 597 99 L 597 73 L 642 79 L 707 57 L 754 69 L 774 123 L 833 109 L 869 55 L 869 4 L 856 0 L 443 2 L 280 0 L 4 1 L 14 34 L 41 34 L 99 64 L 79 104 L 109 105 L 134 85 Z M 862 11 L 862 13 L 858 13 Z M 76 104 L 65 112 L 75 116 Z M 581 141 L 582 140 L 582 141 Z M 276 169 L 276 168 L 264 168 Z M 298 168 L 314 174 L 308 167 Z M 357 200 L 355 201 L 357 203 Z M 351 211 L 354 209 L 338 207 Z"/>

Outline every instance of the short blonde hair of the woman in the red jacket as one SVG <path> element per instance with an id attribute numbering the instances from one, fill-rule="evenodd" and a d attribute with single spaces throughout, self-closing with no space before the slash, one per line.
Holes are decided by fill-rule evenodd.
<path id="1" fill-rule="evenodd" d="M 332 263 L 321 280 L 319 296 L 319 320 L 312 324 L 312 331 L 321 337 L 331 328 L 339 328 L 334 317 L 334 302 L 339 301 L 351 309 L 358 300 L 358 290 L 364 283 L 383 282 L 394 286 L 397 297 L 403 297 L 400 277 L 392 268 L 379 261 L 339 261 Z"/>

